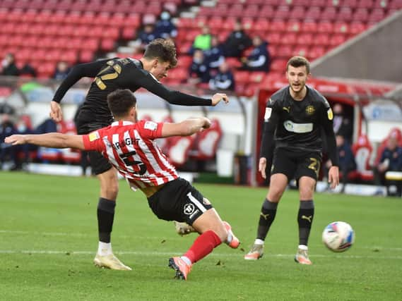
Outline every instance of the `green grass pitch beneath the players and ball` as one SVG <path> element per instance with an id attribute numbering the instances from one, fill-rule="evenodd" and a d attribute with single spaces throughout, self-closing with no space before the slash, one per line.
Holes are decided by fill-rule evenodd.
<path id="1" fill-rule="evenodd" d="M 402 199 L 317 194 L 312 266 L 293 261 L 298 195 L 287 191 L 264 257 L 243 259 L 254 241 L 265 188 L 195 184 L 230 221 L 241 250 L 221 245 L 177 281 L 167 259 L 196 237 L 158 220 L 141 192 L 120 183 L 112 244 L 133 271 L 93 266 L 96 178 L 0 172 L 0 300 L 402 300 Z M 331 221 L 347 221 L 355 245 L 321 243 Z"/>

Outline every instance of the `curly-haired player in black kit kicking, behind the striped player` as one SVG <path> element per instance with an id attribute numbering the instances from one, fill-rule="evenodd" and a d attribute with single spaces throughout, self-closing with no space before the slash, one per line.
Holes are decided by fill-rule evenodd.
<path id="1" fill-rule="evenodd" d="M 50 104 L 50 116 L 61 121 L 60 102 L 67 90 L 83 77 L 95 78 L 78 113 L 77 132 L 84 135 L 112 123 L 112 113 L 107 107 L 107 94 L 117 89 L 132 92 L 143 87 L 167 100 L 183 106 L 215 106 L 221 100 L 228 102 L 226 94 L 216 93 L 212 99 L 191 96 L 163 86 L 159 80 L 177 64 L 175 44 L 167 39 L 155 39 L 148 44 L 143 57 L 135 59 L 106 59 L 75 66 L 61 82 Z M 114 220 L 119 183 L 117 171 L 97 152 L 90 152 L 90 165 L 100 180 L 100 198 L 97 204 L 99 244 L 94 263 L 97 266 L 118 270 L 131 270 L 114 256 L 110 235 Z"/>

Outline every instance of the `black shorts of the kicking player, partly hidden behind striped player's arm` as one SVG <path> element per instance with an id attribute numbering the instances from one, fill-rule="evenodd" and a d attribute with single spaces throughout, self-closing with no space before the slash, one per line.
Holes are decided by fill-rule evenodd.
<path id="1" fill-rule="evenodd" d="M 112 123 L 112 120 L 96 121 L 93 113 L 81 110 L 78 114 L 76 123 L 78 135 L 86 135 L 94 130 L 105 128 L 105 126 L 108 126 L 110 123 Z M 95 175 L 105 173 L 105 171 L 108 171 L 110 168 L 112 168 L 112 164 L 110 164 L 110 162 L 107 161 L 107 159 L 102 156 L 100 152 L 88 152 L 88 156 L 90 167 Z"/>

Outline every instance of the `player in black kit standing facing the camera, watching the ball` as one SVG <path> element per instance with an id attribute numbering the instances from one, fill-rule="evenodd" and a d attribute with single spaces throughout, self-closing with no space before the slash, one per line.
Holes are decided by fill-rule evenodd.
<path id="1" fill-rule="evenodd" d="M 275 219 L 280 197 L 288 182 L 295 178 L 300 195 L 297 214 L 299 247 L 295 261 L 312 264 L 308 257 L 307 241 L 314 218 L 313 195 L 321 165 L 321 128 L 326 135 L 332 163 L 328 177 L 331 188 L 339 184 L 339 171 L 333 113 L 325 97 L 305 85 L 309 69 L 307 59 L 292 57 L 286 66 L 289 85 L 274 93 L 266 104 L 259 172 L 266 178 L 266 167 L 272 164 L 271 182 L 262 204 L 256 240 L 244 259 L 262 257 L 264 240 Z"/>

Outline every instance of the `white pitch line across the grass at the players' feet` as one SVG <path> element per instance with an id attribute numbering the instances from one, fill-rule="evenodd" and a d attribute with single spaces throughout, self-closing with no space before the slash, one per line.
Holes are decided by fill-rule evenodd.
<path id="1" fill-rule="evenodd" d="M 119 251 L 115 254 L 129 254 L 138 256 L 172 256 L 182 254 L 182 252 L 139 252 L 139 251 Z M 63 255 L 93 255 L 93 251 L 56 251 L 56 250 L 0 250 L 0 254 L 63 254 Z M 211 253 L 209 257 L 242 257 L 239 253 Z M 292 258 L 295 254 L 264 254 L 264 257 Z M 373 256 L 373 255 L 347 255 L 347 254 L 313 254 L 310 257 L 337 258 L 337 259 L 397 259 L 402 260 L 402 256 Z"/>

